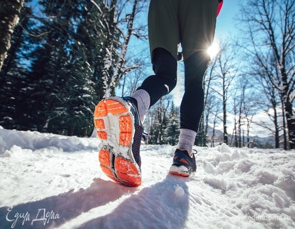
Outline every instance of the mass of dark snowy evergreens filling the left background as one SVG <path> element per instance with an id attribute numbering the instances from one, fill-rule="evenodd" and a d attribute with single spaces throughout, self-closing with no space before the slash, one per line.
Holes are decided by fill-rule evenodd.
<path id="1" fill-rule="evenodd" d="M 136 35 L 130 24 L 138 2 L 43 0 L 33 14 L 27 1 L 0 75 L 0 125 L 91 135 L 104 85 L 115 87 L 124 70 L 132 69 L 125 66 L 125 49 Z M 116 70 L 119 61 L 122 72 Z"/>

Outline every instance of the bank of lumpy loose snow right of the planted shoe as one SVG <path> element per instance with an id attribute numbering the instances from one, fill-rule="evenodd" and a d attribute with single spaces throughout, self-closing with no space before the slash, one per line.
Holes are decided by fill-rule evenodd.
<path id="1" fill-rule="evenodd" d="M 203 182 L 228 196 L 244 217 L 272 228 L 284 227 L 284 219 L 295 220 L 294 150 L 234 149 L 222 144 L 200 152 Z"/>

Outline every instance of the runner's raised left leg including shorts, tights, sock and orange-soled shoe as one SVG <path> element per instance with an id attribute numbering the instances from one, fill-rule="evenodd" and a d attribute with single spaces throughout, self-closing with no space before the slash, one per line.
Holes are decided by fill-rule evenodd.
<path id="1" fill-rule="evenodd" d="M 151 0 L 149 38 L 156 75 L 145 79 L 133 97 L 106 98 L 95 108 L 100 166 L 110 179 L 128 186 L 141 184 L 141 121 L 145 112 L 176 84 L 178 1 Z"/>

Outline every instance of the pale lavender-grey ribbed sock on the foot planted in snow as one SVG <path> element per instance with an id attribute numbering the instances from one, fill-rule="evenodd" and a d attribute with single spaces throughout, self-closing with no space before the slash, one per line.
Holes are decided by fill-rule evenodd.
<path id="1" fill-rule="evenodd" d="M 189 129 L 180 129 L 179 142 L 177 148 L 180 150 L 187 150 L 189 155 L 193 154 L 193 145 L 197 133 Z"/>

